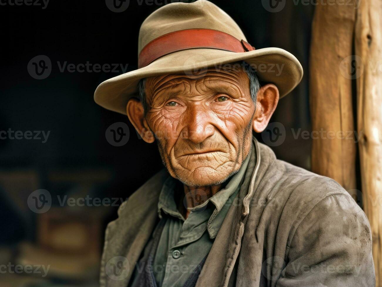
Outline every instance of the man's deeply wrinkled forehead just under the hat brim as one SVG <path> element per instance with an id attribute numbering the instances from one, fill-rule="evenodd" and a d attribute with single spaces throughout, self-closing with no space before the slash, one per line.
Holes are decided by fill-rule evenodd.
<path id="1" fill-rule="evenodd" d="M 226 64 L 223 67 L 210 67 L 187 74 L 166 74 L 148 77 L 146 94 L 155 95 L 167 90 L 187 86 L 220 85 L 232 88 L 249 87 L 249 78 L 240 64 Z"/>

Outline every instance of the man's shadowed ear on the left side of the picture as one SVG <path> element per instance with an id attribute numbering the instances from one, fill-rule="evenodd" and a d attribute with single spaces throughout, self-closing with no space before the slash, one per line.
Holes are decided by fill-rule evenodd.
<path id="1" fill-rule="evenodd" d="M 130 122 L 137 130 L 142 139 L 146 143 L 153 143 L 155 140 L 149 125 L 144 117 L 144 109 L 141 101 L 136 98 L 131 98 L 126 105 L 126 114 L 129 117 Z"/>

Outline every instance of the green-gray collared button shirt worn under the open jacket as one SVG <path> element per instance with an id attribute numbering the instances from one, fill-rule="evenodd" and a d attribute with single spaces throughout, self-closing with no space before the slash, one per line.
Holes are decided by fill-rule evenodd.
<path id="1" fill-rule="evenodd" d="M 158 286 L 183 286 L 208 255 L 243 183 L 250 154 L 225 188 L 201 205 L 191 208 L 187 219 L 178 211 L 175 202 L 178 181 L 172 177 L 165 181 L 158 203 L 159 217 L 165 223 L 152 266 Z"/>

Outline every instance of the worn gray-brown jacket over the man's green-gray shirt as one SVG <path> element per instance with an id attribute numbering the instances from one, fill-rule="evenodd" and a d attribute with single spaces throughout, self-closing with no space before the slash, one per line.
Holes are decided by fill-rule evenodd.
<path id="1" fill-rule="evenodd" d="M 254 146 L 240 204 L 231 205 L 196 286 L 375 286 L 370 225 L 353 198 L 334 180 L 277 160 L 256 139 Z M 167 176 L 153 176 L 108 224 L 101 286 L 128 285 Z M 112 273 L 116 258 L 123 272 Z"/>

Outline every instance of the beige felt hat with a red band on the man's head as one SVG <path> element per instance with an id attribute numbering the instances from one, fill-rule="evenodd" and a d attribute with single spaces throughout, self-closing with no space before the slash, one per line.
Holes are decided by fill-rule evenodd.
<path id="1" fill-rule="evenodd" d="M 94 101 L 105 109 L 126 114 L 126 104 L 138 97 L 140 79 L 199 71 L 245 61 L 264 82 L 274 83 L 280 97 L 301 81 L 303 68 L 280 48 L 255 50 L 240 27 L 207 0 L 171 3 L 154 11 L 139 30 L 138 69 L 102 82 Z"/>

